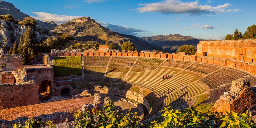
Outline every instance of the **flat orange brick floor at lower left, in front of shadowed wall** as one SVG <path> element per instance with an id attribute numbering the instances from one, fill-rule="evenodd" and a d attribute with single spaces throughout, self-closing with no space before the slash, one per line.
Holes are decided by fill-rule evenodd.
<path id="1" fill-rule="evenodd" d="M 22 107 L 15 107 L 0 110 L 1 120 L 14 120 L 17 117 L 36 117 L 42 114 L 52 114 L 54 112 L 67 111 L 74 112 L 80 110 L 83 104 L 90 104 L 94 97 L 82 97 L 75 99 L 67 99 L 61 101 L 34 104 Z"/>

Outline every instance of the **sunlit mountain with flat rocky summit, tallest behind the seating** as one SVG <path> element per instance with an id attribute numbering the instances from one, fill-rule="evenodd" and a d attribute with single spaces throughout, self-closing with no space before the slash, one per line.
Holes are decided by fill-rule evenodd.
<path id="1" fill-rule="evenodd" d="M 148 43 L 138 37 L 132 35 L 119 34 L 113 32 L 107 28 L 102 27 L 95 20 L 90 17 L 80 17 L 61 24 L 51 30 L 52 33 L 68 33 L 75 40 L 80 41 L 97 41 L 99 43 L 105 43 L 106 41 L 112 41 L 118 44 L 118 49 L 123 42 L 131 41 L 137 50 L 162 50 L 161 48 Z"/>

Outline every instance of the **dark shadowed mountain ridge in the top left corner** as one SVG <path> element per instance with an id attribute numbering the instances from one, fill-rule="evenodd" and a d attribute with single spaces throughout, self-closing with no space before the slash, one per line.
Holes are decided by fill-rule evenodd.
<path id="1" fill-rule="evenodd" d="M 29 15 L 21 12 L 19 9 L 15 8 L 15 6 L 12 3 L 1 1 L 0 0 L 0 15 L 7 15 L 10 14 L 13 16 L 16 20 L 22 20 L 25 17 L 29 17 Z M 57 26 L 55 23 L 47 23 L 40 20 L 36 20 L 38 25 L 38 28 L 45 29 L 45 30 L 52 30 L 54 27 Z"/>

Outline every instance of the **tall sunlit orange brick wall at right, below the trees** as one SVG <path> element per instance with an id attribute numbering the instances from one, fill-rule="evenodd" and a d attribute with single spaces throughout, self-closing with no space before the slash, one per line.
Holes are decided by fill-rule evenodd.
<path id="1" fill-rule="evenodd" d="M 197 44 L 197 56 L 218 58 L 236 58 L 236 60 L 253 62 L 256 61 L 256 40 L 217 40 L 200 41 Z"/>

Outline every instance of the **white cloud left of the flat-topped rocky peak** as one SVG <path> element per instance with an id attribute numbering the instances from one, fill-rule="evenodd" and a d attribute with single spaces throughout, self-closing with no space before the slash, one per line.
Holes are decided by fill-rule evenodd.
<path id="1" fill-rule="evenodd" d="M 57 14 L 51 14 L 51 13 L 46 13 L 46 12 L 32 12 L 32 13 L 37 15 L 37 16 L 33 17 L 37 20 L 55 21 L 57 24 L 66 23 L 69 20 L 81 17 L 81 16 L 57 15 Z"/>

